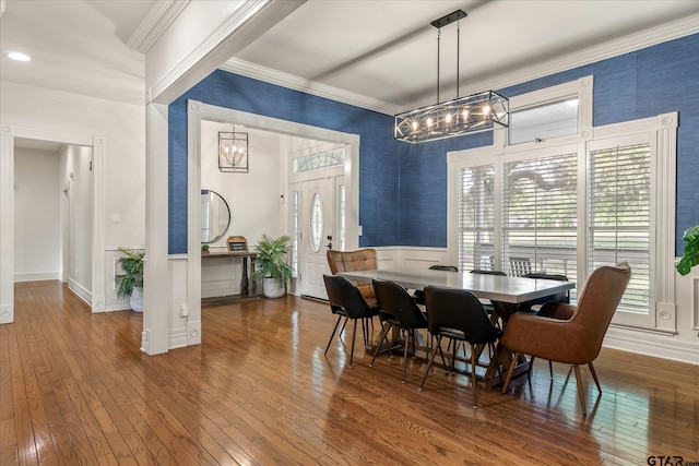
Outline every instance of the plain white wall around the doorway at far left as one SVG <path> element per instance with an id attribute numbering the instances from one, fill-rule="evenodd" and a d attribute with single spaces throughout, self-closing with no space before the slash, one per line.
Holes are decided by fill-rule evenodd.
<path id="1" fill-rule="evenodd" d="M 144 244 L 145 107 L 0 82 L 0 122 L 104 140 L 104 215 L 98 222 L 105 246 L 98 253 L 105 264 L 105 308 L 128 309 L 128 302 L 116 298 L 114 261 L 119 246 Z M 117 223 L 110 222 L 111 214 L 118 216 Z"/>

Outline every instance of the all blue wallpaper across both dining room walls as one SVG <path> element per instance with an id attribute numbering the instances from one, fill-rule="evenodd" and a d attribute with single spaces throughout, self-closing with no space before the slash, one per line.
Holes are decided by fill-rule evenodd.
<path id="1" fill-rule="evenodd" d="M 699 34 L 498 91 L 508 97 L 594 75 L 594 126 L 679 111 L 677 238 L 699 224 Z M 187 250 L 186 99 L 359 134 L 359 223 L 366 246 L 447 246 L 447 152 L 488 145 L 490 133 L 412 145 L 393 118 L 216 71 L 169 107 L 169 251 Z"/>

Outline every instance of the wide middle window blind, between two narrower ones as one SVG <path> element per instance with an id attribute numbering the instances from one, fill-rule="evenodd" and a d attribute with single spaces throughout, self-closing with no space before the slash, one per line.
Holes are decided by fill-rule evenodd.
<path id="1" fill-rule="evenodd" d="M 578 154 L 503 164 L 502 270 L 577 279 Z"/>

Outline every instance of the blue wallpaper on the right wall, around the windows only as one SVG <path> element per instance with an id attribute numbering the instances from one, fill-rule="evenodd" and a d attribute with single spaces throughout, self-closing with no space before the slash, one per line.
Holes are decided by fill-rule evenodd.
<path id="1" fill-rule="evenodd" d="M 699 224 L 699 34 L 497 91 L 512 97 L 594 75 L 593 124 L 679 111 L 676 252 Z M 400 150 L 400 244 L 447 246 L 447 152 L 491 143 L 483 134 Z"/>

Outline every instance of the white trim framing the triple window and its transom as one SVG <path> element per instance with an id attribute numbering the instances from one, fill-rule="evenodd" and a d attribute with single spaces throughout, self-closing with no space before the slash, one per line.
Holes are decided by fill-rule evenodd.
<path id="1" fill-rule="evenodd" d="M 502 196 L 502 163 L 506 159 L 518 158 L 518 154 L 528 151 L 556 147 L 571 143 L 578 144 L 578 189 L 584 192 L 578 211 L 578 244 L 581 256 L 578 260 L 578 288 L 581 289 L 588 277 L 588 156 L 589 141 L 620 138 L 637 133 L 654 133 L 651 140 L 651 186 L 654 202 L 651 205 L 651 230 L 654 241 L 651 244 L 651 287 L 649 300 L 648 322 L 613 323 L 614 326 L 643 328 L 654 333 L 677 333 L 677 307 L 675 298 L 675 208 L 676 208 L 676 157 L 677 157 L 677 127 L 678 113 L 668 112 L 644 119 L 614 123 L 604 127 L 592 127 L 592 76 L 554 86 L 549 89 L 536 91 L 510 99 L 511 108 L 526 105 L 541 105 L 550 99 L 557 99 L 577 88 L 580 93 L 579 108 L 580 129 L 574 136 L 561 136 L 541 143 L 521 143 L 507 145 L 507 131 L 496 131 L 494 144 L 473 150 L 454 151 L 447 154 L 448 165 L 448 235 L 447 249 L 452 262 L 458 258 L 458 177 L 460 168 L 474 165 L 490 164 L 495 166 L 496 192 Z M 541 98 L 541 100 L 536 100 Z M 588 126 L 589 122 L 589 126 Z M 496 210 L 494 225 L 498 236 L 502 235 L 501 208 Z M 497 244 L 497 243 L 496 243 Z M 501 251 L 496 246 L 496 258 Z"/>

